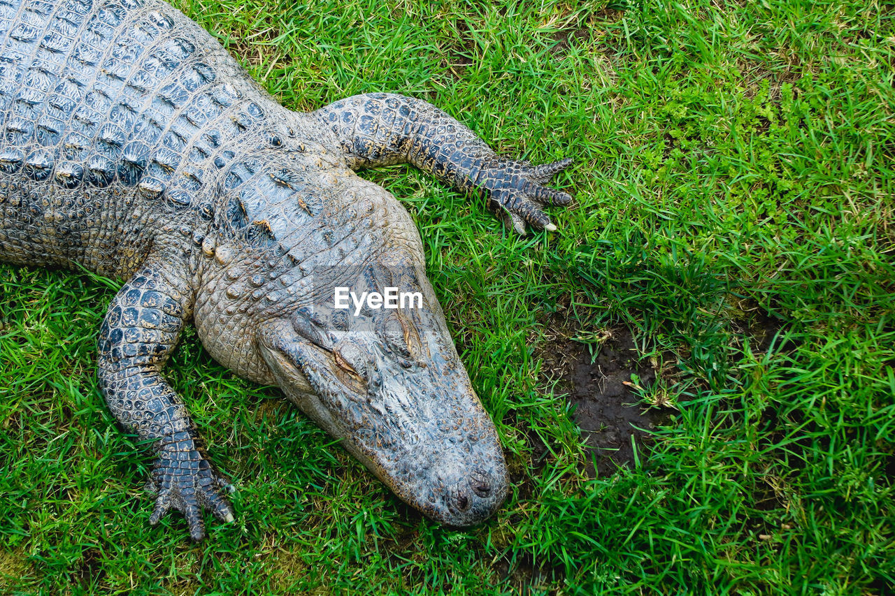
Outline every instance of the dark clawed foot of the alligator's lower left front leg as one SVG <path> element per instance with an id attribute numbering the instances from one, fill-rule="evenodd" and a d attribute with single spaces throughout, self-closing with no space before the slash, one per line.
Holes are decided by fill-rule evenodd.
<path id="1" fill-rule="evenodd" d="M 194 541 L 205 537 L 202 508 L 210 509 L 222 522 L 234 520 L 233 507 L 225 497 L 225 492 L 234 491 L 233 485 L 217 473 L 192 439 L 160 448 L 147 489 L 156 496 L 149 524 L 158 524 L 174 507 L 186 518 Z"/>

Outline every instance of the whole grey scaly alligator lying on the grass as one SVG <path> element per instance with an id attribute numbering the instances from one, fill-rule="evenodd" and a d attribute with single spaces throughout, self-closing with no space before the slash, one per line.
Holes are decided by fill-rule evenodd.
<path id="1" fill-rule="evenodd" d="M 409 163 L 519 234 L 552 231 L 571 162 L 499 157 L 421 99 L 371 93 L 281 106 L 161 0 L 0 0 L 0 260 L 123 282 L 98 333 L 98 388 L 157 459 L 150 524 L 234 520 L 164 376 L 183 328 L 286 398 L 439 523 L 507 497 L 507 466 L 389 192 L 355 172 Z M 337 287 L 402 288 L 405 308 L 343 310 Z M 403 295 L 403 294 L 402 294 Z M 411 308 L 413 306 L 413 308 Z"/>

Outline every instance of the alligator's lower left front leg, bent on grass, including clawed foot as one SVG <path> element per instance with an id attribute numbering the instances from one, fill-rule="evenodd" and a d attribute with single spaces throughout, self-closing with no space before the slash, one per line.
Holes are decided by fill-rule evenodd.
<path id="1" fill-rule="evenodd" d="M 99 333 L 99 384 L 109 409 L 125 428 L 155 439 L 158 459 L 149 487 L 156 493 L 150 524 L 174 507 L 205 535 L 202 507 L 233 521 L 220 476 L 199 446 L 199 438 L 179 396 L 161 370 L 192 313 L 192 291 L 175 274 L 185 263 L 150 255 L 109 306 Z"/>

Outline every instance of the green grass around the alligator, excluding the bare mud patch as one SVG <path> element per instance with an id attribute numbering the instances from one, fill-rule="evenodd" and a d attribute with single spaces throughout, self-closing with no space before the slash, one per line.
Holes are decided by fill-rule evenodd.
<path id="1" fill-rule="evenodd" d="M 513 492 L 450 531 L 190 331 L 169 366 L 237 481 L 201 544 L 149 528 L 151 458 L 94 351 L 115 285 L 0 266 L 0 592 L 895 590 L 893 9 L 183 0 L 286 106 L 387 90 L 505 154 L 570 156 L 555 234 L 396 166 Z M 544 362 L 625 329 L 652 449 L 588 478 Z"/>

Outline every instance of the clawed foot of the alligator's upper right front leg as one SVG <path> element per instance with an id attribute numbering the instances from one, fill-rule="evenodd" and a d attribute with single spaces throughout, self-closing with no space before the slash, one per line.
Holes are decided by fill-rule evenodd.
<path id="1" fill-rule="evenodd" d="M 571 158 L 541 166 L 501 160 L 494 166 L 482 168 L 479 185 L 488 192 L 489 208 L 517 234 L 525 235 L 526 226 L 552 232 L 557 226 L 550 223 L 550 216 L 544 213 L 543 208 L 546 205 L 567 205 L 572 195 L 546 184 L 571 163 Z"/>

